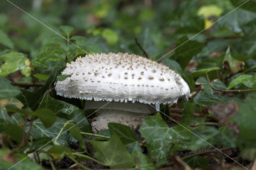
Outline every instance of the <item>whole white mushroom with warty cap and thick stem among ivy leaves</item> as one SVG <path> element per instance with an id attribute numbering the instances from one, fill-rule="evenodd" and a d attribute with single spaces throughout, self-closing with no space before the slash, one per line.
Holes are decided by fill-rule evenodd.
<path id="1" fill-rule="evenodd" d="M 108 128 L 109 122 L 135 129 L 160 103 L 176 103 L 190 95 L 187 83 L 175 71 L 135 54 L 80 56 L 67 63 L 65 74 L 72 76 L 57 82 L 57 95 L 86 100 L 84 109 L 99 109 L 112 101 L 97 111 L 94 133 Z"/>

